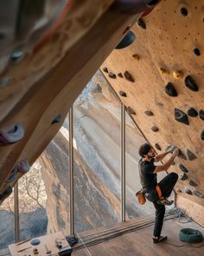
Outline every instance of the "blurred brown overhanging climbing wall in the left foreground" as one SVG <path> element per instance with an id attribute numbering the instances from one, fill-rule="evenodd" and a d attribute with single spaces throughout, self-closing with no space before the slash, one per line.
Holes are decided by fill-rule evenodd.
<path id="1" fill-rule="evenodd" d="M 77 96 L 138 13 L 158 1 L 149 2 L 61 0 L 48 13 L 44 1 L 16 10 L 1 1 L 0 11 L 14 8 L 20 18 L 10 26 L 3 16 L 0 24 L 0 204 L 56 135 Z M 64 9 L 59 15 L 60 3 Z M 56 9 L 59 16 L 54 19 Z"/>

